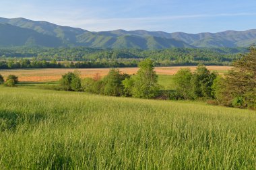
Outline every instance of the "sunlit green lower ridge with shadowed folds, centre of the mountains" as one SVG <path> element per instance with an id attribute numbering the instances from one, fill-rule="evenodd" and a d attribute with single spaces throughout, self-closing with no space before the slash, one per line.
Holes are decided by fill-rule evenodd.
<path id="1" fill-rule="evenodd" d="M 111 33 L 88 32 L 77 36 L 77 43 L 83 46 L 96 48 L 138 48 L 138 49 L 163 49 L 171 47 L 193 48 L 193 46 L 175 39 L 153 36 L 113 36 Z"/>

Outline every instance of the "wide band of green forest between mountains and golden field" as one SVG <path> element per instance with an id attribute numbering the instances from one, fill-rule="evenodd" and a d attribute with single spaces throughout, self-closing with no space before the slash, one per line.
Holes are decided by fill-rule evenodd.
<path id="1" fill-rule="evenodd" d="M 151 58 L 154 66 L 230 65 L 246 48 L 170 48 L 165 50 L 97 48 L 1 48 L 0 69 L 137 67 Z M 71 62 L 73 61 L 73 62 Z"/>

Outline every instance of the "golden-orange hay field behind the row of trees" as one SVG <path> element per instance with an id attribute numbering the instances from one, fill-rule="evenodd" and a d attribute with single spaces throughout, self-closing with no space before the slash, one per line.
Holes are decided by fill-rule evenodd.
<path id="1" fill-rule="evenodd" d="M 196 66 L 190 67 L 156 67 L 156 73 L 158 75 L 174 75 L 179 69 L 190 68 L 195 71 Z M 123 73 L 134 74 L 137 73 L 139 68 L 121 68 L 119 69 Z M 231 67 L 227 66 L 207 66 L 210 71 L 218 71 L 219 73 L 225 73 Z M 94 77 L 97 73 L 100 76 L 104 76 L 110 69 L 77 69 L 81 73 L 81 77 Z M 44 82 L 44 81 L 57 81 L 61 78 L 61 75 L 69 71 L 75 71 L 75 69 L 16 69 L 16 70 L 0 70 L 0 74 L 3 77 L 8 75 L 16 75 L 19 77 L 19 81 L 28 82 Z"/>

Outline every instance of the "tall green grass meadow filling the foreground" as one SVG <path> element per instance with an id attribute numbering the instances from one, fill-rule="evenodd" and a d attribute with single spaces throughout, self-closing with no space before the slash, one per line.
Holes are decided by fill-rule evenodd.
<path id="1" fill-rule="evenodd" d="M 0 169 L 255 169 L 256 114 L 0 87 Z"/>

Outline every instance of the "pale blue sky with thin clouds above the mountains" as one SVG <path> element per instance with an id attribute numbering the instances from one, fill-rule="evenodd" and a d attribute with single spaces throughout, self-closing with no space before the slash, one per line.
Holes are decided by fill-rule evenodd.
<path id="1" fill-rule="evenodd" d="M 256 28 L 255 0 L 1 0 L 0 17 L 89 31 L 222 32 Z"/>

